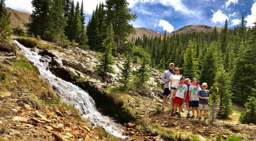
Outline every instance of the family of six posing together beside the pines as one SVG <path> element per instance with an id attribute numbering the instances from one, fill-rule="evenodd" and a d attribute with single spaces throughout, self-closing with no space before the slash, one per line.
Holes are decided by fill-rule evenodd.
<path id="1" fill-rule="evenodd" d="M 207 119 L 207 110 L 210 98 L 209 90 L 207 90 L 207 84 L 202 83 L 202 88 L 199 86 L 199 81 L 196 78 L 184 78 L 179 74 L 179 68 L 174 67 L 174 63 L 170 63 L 168 70 L 164 71 L 162 81 L 164 84 L 163 93 L 163 108 L 165 110 L 167 97 L 171 97 L 171 116 L 181 117 L 182 104 L 185 101 L 186 108 L 188 110 L 187 118 L 195 118 L 195 110 L 198 120 L 202 119 L 202 112 L 205 112 L 205 118 Z M 179 105 L 179 112 L 176 111 Z M 200 115 L 199 115 L 200 110 Z M 192 114 L 190 112 L 192 111 Z"/>

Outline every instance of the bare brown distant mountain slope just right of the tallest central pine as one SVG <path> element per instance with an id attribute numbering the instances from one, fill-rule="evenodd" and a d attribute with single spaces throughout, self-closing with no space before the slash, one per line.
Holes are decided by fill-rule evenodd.
<path id="1" fill-rule="evenodd" d="M 134 38 L 143 37 L 143 34 L 146 34 L 147 37 L 153 36 L 153 38 L 156 36 L 157 37 L 160 36 L 160 34 L 161 34 L 161 36 L 164 36 L 163 32 L 157 32 L 152 29 L 146 29 L 144 27 L 134 27 L 134 29 L 136 30 L 136 34 L 134 34 Z M 131 37 L 132 37 L 132 35 L 129 38 L 131 38 Z"/>

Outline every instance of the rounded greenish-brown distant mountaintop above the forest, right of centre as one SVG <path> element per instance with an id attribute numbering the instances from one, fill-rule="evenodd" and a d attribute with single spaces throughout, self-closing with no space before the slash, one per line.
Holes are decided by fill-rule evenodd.
<path id="1" fill-rule="evenodd" d="M 181 27 L 178 30 L 173 31 L 172 33 L 168 33 L 167 35 L 172 36 L 173 34 L 181 34 L 186 32 L 193 32 L 193 31 L 213 31 L 214 27 L 207 26 L 207 25 L 188 25 Z M 221 27 L 217 27 L 217 31 L 221 31 Z"/>

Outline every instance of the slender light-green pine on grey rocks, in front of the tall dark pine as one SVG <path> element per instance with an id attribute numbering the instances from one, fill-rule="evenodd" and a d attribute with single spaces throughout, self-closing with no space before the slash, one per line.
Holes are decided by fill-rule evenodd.
<path id="1" fill-rule="evenodd" d="M 112 24 L 110 23 L 109 27 L 107 28 L 107 37 L 103 40 L 103 47 L 106 47 L 106 53 L 99 56 L 100 64 L 97 65 L 97 71 L 101 75 L 106 75 L 107 73 L 115 73 L 114 68 L 112 67 L 115 64 L 114 58 L 111 54 L 112 48 L 116 48 L 117 44 L 114 42 L 114 31 Z"/>

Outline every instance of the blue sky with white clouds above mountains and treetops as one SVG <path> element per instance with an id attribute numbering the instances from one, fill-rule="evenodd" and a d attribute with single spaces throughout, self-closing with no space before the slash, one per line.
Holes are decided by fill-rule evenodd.
<path id="1" fill-rule="evenodd" d="M 32 13 L 32 0 L 6 0 L 6 7 Z M 74 0 L 75 3 L 77 0 Z M 78 0 L 81 4 L 82 0 Z M 96 4 L 105 0 L 83 0 L 86 23 Z M 256 21 L 256 0 L 128 0 L 132 13 L 138 18 L 134 27 L 145 27 L 159 32 L 171 32 L 186 25 L 203 24 L 223 27 L 225 19 L 228 27 L 239 24 L 241 15 L 246 26 Z"/>

